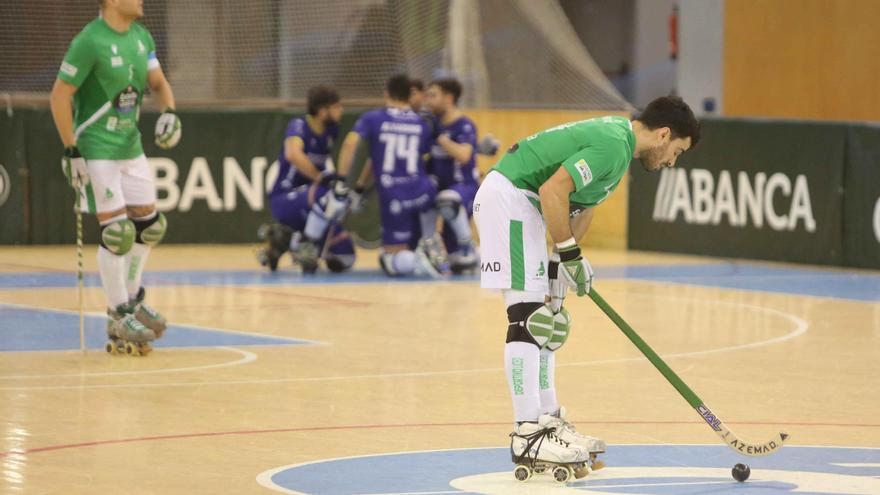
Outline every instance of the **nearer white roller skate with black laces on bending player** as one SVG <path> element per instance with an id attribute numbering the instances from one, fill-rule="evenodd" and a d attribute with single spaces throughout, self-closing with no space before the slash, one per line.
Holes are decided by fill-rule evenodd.
<path id="1" fill-rule="evenodd" d="M 558 418 L 544 414 L 537 423 L 520 423 L 510 434 L 510 456 L 516 467 L 513 476 L 528 481 L 533 473 L 549 471 L 559 483 L 583 478 L 589 473 L 590 457 L 580 445 L 574 445 L 556 434 L 553 423 Z"/>

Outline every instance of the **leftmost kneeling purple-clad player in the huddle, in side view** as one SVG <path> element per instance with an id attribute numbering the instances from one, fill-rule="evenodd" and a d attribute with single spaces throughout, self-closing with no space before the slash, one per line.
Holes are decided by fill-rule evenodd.
<path id="1" fill-rule="evenodd" d="M 306 272 L 317 269 L 319 258 L 334 272 L 354 264 L 354 245 L 334 222 L 347 209 L 347 194 L 335 191 L 338 176 L 327 166 L 341 118 L 342 103 L 336 91 L 316 86 L 309 89 L 308 113 L 287 125 L 278 178 L 269 193 L 269 206 L 279 224 L 262 226 L 259 231 L 267 241 L 260 262 L 270 270 L 277 268 L 278 259 L 288 249 Z M 333 218 L 324 221 L 328 204 Z M 333 231 L 328 239 L 330 228 Z M 327 249 L 323 249 L 325 241 Z M 319 257 L 322 251 L 325 254 Z"/>

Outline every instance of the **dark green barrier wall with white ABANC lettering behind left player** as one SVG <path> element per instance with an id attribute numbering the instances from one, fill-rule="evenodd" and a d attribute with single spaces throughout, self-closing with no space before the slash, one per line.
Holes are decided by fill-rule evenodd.
<path id="1" fill-rule="evenodd" d="M 341 135 L 359 114 L 346 113 Z M 140 128 L 156 175 L 157 207 L 168 217 L 165 242 L 255 242 L 259 224 L 271 219 L 266 191 L 277 175 L 284 130 L 294 115 L 180 112 L 183 138 L 174 149 L 162 150 L 151 139 L 158 114 L 145 113 Z M 3 182 L 8 198 L 0 205 L 0 243 L 75 241 L 75 198 L 61 173 L 61 152 L 48 109 L 0 114 L 0 165 L 10 177 Z M 370 209 L 348 223 L 365 224 L 369 231 L 377 222 Z M 87 217 L 84 226 L 86 242 L 96 242 L 96 222 Z"/>

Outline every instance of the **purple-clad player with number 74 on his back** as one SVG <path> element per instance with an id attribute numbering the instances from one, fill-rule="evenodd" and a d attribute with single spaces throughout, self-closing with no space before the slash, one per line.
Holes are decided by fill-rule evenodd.
<path id="1" fill-rule="evenodd" d="M 436 236 L 437 188 L 425 170 L 430 151 L 428 124 L 409 107 L 410 82 L 404 75 L 389 79 L 384 108 L 367 112 L 346 136 L 339 170 L 351 167 L 358 143 L 369 147 L 369 172 L 375 178 L 382 222 L 380 264 L 388 275 L 439 275 L 445 263 Z M 362 174 L 363 175 L 363 174 Z M 421 238 L 416 243 L 416 234 Z M 415 250 L 412 245 L 417 244 Z"/>

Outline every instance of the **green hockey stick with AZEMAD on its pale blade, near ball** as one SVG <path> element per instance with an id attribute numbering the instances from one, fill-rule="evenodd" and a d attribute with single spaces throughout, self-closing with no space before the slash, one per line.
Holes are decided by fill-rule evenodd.
<path id="1" fill-rule="evenodd" d="M 740 440 L 739 437 L 737 437 L 736 434 L 730 431 L 730 428 L 728 428 L 727 425 L 725 425 L 724 422 L 721 421 L 721 418 L 719 418 L 715 415 L 715 413 L 709 410 L 709 408 L 702 400 L 700 400 L 697 394 L 695 394 L 694 391 L 691 390 L 690 387 L 688 387 L 687 384 L 685 384 L 682 379 L 679 378 L 678 375 L 676 375 L 675 372 L 672 371 L 672 369 L 669 368 L 669 366 L 667 366 L 665 362 L 663 362 L 662 359 L 660 359 L 660 356 L 658 356 L 657 353 L 654 352 L 653 349 L 651 349 L 651 346 L 649 346 L 644 340 L 642 340 L 642 338 L 639 337 L 636 331 L 633 330 L 632 327 L 629 326 L 629 324 L 623 321 L 623 318 L 621 318 L 620 315 L 618 315 L 617 312 L 614 311 L 614 309 L 607 302 L 605 302 L 605 299 L 602 299 L 602 296 L 600 296 L 599 293 L 596 292 L 595 288 L 591 289 L 589 294 L 590 299 L 592 299 L 593 302 L 596 303 L 596 306 L 599 306 L 599 309 L 601 309 L 602 312 L 604 312 L 608 316 L 608 318 L 610 318 L 611 321 L 613 321 L 614 324 L 617 325 L 617 328 L 619 328 L 620 331 L 623 332 L 624 335 L 626 335 L 629 340 L 631 340 L 632 343 L 639 348 L 640 351 L 642 351 L 642 354 L 644 354 L 645 357 L 648 358 L 649 361 L 651 361 L 651 364 L 653 364 L 654 367 L 657 368 L 657 370 L 661 374 L 663 374 L 666 380 L 668 380 L 669 383 L 673 387 L 675 387 L 675 390 L 677 390 L 678 393 L 681 394 L 682 397 L 684 397 L 684 400 L 686 400 L 688 404 L 690 404 L 691 407 L 693 407 L 697 411 L 697 414 L 699 414 L 700 417 L 703 418 L 703 421 L 705 421 L 710 427 L 712 427 L 712 430 L 715 431 L 715 433 L 721 438 L 721 440 L 724 441 L 724 443 L 727 444 L 728 447 L 739 452 L 740 454 L 752 457 L 763 457 L 766 455 L 770 455 L 773 452 L 776 452 L 777 450 L 782 448 L 782 445 L 788 438 L 788 434 L 786 433 L 779 433 L 771 440 L 761 444 L 748 443 Z"/>

